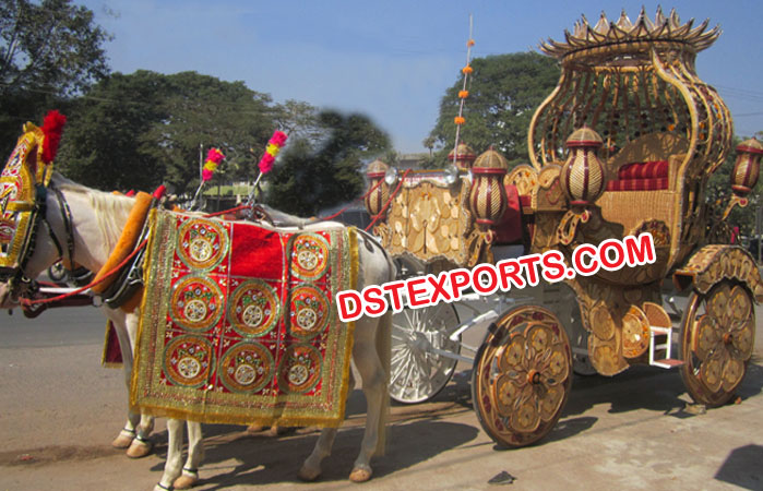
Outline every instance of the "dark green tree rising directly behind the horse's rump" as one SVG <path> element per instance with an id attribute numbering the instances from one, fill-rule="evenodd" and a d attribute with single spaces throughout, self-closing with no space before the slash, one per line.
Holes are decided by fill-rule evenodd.
<path id="1" fill-rule="evenodd" d="M 357 197 L 363 190 L 361 161 L 391 148 L 386 133 L 362 115 L 324 110 L 314 130 L 315 137 L 294 139 L 267 176 L 272 206 L 310 216 Z"/>

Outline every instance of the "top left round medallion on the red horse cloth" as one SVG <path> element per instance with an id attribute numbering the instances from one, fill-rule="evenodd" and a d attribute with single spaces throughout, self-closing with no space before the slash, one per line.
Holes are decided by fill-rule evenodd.
<path id="1" fill-rule="evenodd" d="M 228 250 L 228 233 L 220 224 L 208 219 L 189 219 L 178 231 L 180 259 L 194 270 L 212 270 Z"/>

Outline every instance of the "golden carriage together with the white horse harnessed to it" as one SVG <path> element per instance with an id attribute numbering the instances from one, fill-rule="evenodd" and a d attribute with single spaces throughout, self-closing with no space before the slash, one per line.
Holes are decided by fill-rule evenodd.
<path id="1" fill-rule="evenodd" d="M 680 366 L 695 400 L 717 406 L 732 396 L 752 355 L 753 301 L 763 300 L 763 284 L 752 258 L 729 244 L 725 218 L 734 206 L 747 204 L 763 146 L 751 140 L 737 147 L 735 196 L 719 215 L 724 219 L 714 220 L 705 185 L 730 151 L 731 119 L 717 93 L 696 76 L 694 57 L 718 34 L 706 23 L 692 28 L 659 11 L 654 22 L 643 13 L 635 23 L 624 15 L 617 23 L 603 16 L 595 26 L 584 20 L 565 43 L 543 47 L 561 61 L 562 75 L 532 120 L 532 166 L 509 170 L 498 152 L 476 158 L 462 144 L 453 153 L 457 167 L 445 171 L 400 177 L 382 163 L 370 167 L 366 206 L 381 219 L 374 231 L 403 275 L 472 267 L 526 252 L 556 250 L 569 262 L 584 244 L 645 233 L 655 249 L 653 261 L 642 266 L 601 267 L 560 283 L 540 282 L 533 291 L 496 296 L 493 311 L 463 324 L 451 303 L 400 312 L 388 372 L 394 398 L 415 403 L 433 396 L 455 363 L 467 360 L 474 363 L 473 399 L 482 427 L 498 443 L 522 446 L 543 438 L 559 419 L 573 369 L 613 375 L 639 363 Z M 130 241 L 122 241 L 124 231 L 119 235 L 132 221 L 138 200 L 52 175 L 61 128 L 51 125 L 25 128 L 0 178 L 4 307 L 28 292 L 32 279 L 57 259 L 93 272 L 106 267 L 110 275 L 119 267 L 106 265 L 121 266 L 131 256 L 115 260 L 115 251 L 147 242 L 139 240 L 140 227 L 128 233 Z M 151 196 L 146 200 L 143 216 L 151 207 Z M 336 322 L 330 303 L 339 286 L 392 279 L 386 255 L 370 238 L 338 227 L 281 230 L 264 223 L 152 213 L 163 228 L 154 230 L 147 246 L 150 294 L 142 298 L 147 344 L 136 351 L 138 375 L 131 383 L 136 406 L 170 417 L 249 422 L 257 417 L 248 409 L 271 407 L 265 419 L 278 421 L 284 404 L 296 403 L 298 411 L 287 418 L 296 424 L 313 421 L 313 407 L 330 405 L 326 424 L 334 426 L 344 416 L 351 385 L 351 352 L 370 399 L 351 477 L 369 479 L 370 458 L 383 445 L 379 430 L 385 419 L 389 323 L 362 318 L 351 345 L 351 327 Z M 270 251 L 266 258 L 258 247 Z M 235 261 L 237 254 L 245 260 Z M 253 263 L 267 266 L 271 276 L 235 273 Z M 660 296 L 667 276 L 692 291 L 680 360 L 670 357 L 671 320 Z M 129 367 L 138 313 L 110 315 L 121 325 Z M 486 338 L 472 347 L 475 357 L 462 356 L 461 335 L 489 320 L 494 322 Z M 329 324 L 349 328 L 343 343 L 326 334 Z M 150 327 L 156 331 L 146 336 Z M 287 348 L 282 342 L 290 338 L 296 347 Z M 329 344 L 338 355 L 324 355 Z M 325 394 L 327 379 L 319 381 L 317 373 L 326 371 L 334 382 L 331 400 L 309 399 Z M 181 471 L 182 431 L 177 421 L 168 428 L 162 489 Z M 194 482 L 201 431 L 192 428 L 182 471 Z M 335 431 L 324 430 L 303 477 L 320 474 Z"/>

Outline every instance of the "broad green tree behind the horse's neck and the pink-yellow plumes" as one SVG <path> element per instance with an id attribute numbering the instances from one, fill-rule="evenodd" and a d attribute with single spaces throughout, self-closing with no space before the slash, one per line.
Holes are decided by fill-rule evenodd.
<path id="1" fill-rule="evenodd" d="M 273 131 L 270 97 L 242 82 L 195 72 L 115 73 L 74 101 L 58 164 L 67 175 L 100 189 L 178 193 L 199 184 L 200 148 L 227 159 L 214 179 L 246 180 Z"/>

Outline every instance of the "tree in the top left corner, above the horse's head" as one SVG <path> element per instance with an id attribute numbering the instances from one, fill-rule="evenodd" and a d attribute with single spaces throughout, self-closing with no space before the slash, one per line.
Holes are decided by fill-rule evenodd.
<path id="1" fill-rule="evenodd" d="M 71 0 L 0 2 L 0 151 L 10 153 L 22 124 L 108 73 L 109 35 L 93 12 Z"/>

